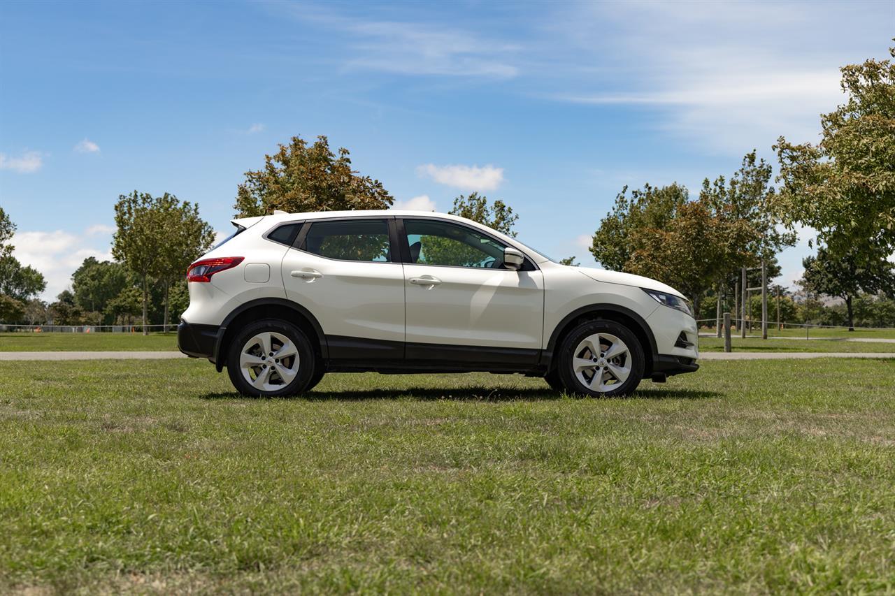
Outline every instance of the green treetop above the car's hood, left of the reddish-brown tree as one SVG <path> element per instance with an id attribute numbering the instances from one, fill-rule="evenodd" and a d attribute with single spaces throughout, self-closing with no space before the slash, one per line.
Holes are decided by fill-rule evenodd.
<path id="1" fill-rule="evenodd" d="M 672 183 L 660 188 L 644 184 L 627 195 L 625 186 L 616 197 L 612 210 L 600 221 L 593 234 L 591 253 L 607 269 L 626 270 L 626 264 L 639 248 L 635 231 L 647 228 L 663 230 L 675 217 L 678 207 L 686 203 L 685 186 Z"/>

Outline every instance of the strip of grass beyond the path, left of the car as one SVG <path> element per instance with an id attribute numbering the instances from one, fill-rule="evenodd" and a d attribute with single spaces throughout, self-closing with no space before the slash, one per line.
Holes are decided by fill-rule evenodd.
<path id="1" fill-rule="evenodd" d="M 0 352 L 166 351 L 177 349 L 177 334 L 0 333 Z"/>

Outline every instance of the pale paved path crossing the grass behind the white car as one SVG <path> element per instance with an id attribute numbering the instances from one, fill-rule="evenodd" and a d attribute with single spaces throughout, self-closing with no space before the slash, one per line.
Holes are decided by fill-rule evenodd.
<path id="1" fill-rule="evenodd" d="M 0 361 L 22 360 L 166 360 L 186 358 L 180 352 L 0 352 Z M 703 352 L 700 360 L 786 360 L 805 358 L 895 358 L 873 352 Z"/>

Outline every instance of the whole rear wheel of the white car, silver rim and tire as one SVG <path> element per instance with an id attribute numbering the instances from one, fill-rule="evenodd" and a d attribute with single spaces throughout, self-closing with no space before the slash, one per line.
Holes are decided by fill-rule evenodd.
<path id="1" fill-rule="evenodd" d="M 264 319 L 234 336 L 226 368 L 243 396 L 294 396 L 311 384 L 319 367 L 316 361 L 301 329 L 284 320 Z"/>

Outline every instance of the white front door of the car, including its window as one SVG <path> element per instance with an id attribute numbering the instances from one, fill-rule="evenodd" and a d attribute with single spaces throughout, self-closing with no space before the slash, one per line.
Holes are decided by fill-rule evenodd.
<path id="1" fill-rule="evenodd" d="M 535 362 L 543 329 L 543 277 L 504 267 L 505 245 L 471 226 L 405 218 L 408 360 Z M 406 257 L 405 257 L 406 258 Z"/>

